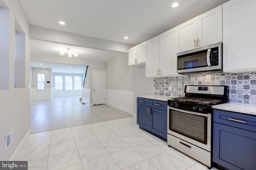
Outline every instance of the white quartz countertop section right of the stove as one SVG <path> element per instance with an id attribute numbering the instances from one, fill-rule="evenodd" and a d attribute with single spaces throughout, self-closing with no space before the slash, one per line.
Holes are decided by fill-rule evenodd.
<path id="1" fill-rule="evenodd" d="M 254 105 L 226 103 L 212 106 L 212 108 L 256 116 L 256 106 Z"/>

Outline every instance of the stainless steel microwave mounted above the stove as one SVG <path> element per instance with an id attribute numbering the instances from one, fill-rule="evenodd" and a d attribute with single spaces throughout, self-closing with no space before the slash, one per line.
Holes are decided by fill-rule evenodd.
<path id="1" fill-rule="evenodd" d="M 177 53 L 177 73 L 223 72 L 222 42 Z"/>

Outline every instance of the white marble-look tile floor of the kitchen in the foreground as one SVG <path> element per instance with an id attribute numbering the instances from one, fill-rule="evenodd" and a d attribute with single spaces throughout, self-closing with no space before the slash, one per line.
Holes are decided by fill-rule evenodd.
<path id="1" fill-rule="evenodd" d="M 28 170 L 208 170 L 139 129 L 136 117 L 32 133 L 17 160 Z"/>

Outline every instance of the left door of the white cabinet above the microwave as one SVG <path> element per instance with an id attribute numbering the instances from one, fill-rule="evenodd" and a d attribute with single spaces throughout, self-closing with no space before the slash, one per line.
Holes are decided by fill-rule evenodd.
<path id="1" fill-rule="evenodd" d="M 186 21 L 179 25 L 179 52 L 197 47 L 197 20 Z"/>

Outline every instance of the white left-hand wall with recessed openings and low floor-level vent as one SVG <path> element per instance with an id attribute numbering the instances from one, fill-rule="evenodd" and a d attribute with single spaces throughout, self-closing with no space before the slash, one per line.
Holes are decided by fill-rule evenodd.
<path id="1" fill-rule="evenodd" d="M 1 82 L 7 82 L 8 88 L 0 91 L 0 160 L 9 160 L 22 139 L 30 131 L 30 39 L 29 23 L 18 0 L 0 0 L 0 6 L 7 7 L 9 16 L 8 30 L 4 30 L 6 47 L 0 46 L 1 56 L 7 58 L 8 71 L 3 72 Z M 14 88 L 14 51 L 15 19 L 25 33 L 25 88 Z M 2 27 L 1 22 L 1 27 Z M 1 30 L 1 28 L 0 28 Z M 1 30 L 2 31 L 2 30 Z M 2 39 L 2 37 L 1 37 Z M 0 40 L 1 41 L 1 40 Z M 2 62 L 2 61 L 1 61 Z M 5 135 L 14 129 L 14 142 L 5 150 Z"/>

